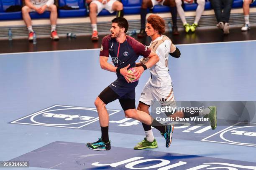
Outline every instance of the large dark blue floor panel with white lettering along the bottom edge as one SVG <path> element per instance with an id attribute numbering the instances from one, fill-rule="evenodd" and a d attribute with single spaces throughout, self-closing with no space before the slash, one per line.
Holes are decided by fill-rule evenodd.
<path id="1" fill-rule="evenodd" d="M 163 146 L 164 147 L 164 146 Z M 171 152 L 171 148 L 166 148 Z M 90 150 L 84 143 L 57 141 L 14 158 L 12 161 L 28 160 L 31 167 L 59 170 L 254 170 L 256 163 L 166 153 L 153 150 L 133 150 L 112 147 L 108 151 Z"/>

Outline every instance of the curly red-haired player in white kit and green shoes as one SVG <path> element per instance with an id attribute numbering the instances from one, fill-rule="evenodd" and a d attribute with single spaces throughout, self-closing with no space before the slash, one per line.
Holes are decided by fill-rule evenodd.
<path id="1" fill-rule="evenodd" d="M 164 19 L 158 15 L 150 15 L 147 19 L 146 34 L 151 37 L 152 41 L 149 48 L 159 56 L 159 62 L 156 65 L 149 68 L 151 76 L 149 77 L 146 85 L 144 86 L 141 97 L 138 104 L 138 110 L 149 114 L 149 107 L 151 103 L 159 101 L 161 107 L 171 106 L 176 107 L 174 100 L 172 79 L 169 75 L 168 60 L 169 55 L 175 58 L 179 58 L 181 53 L 179 49 L 172 43 L 169 37 L 162 35 L 165 31 Z M 140 66 L 147 62 L 146 58 L 142 58 L 141 62 L 136 63 L 136 66 Z M 173 111 L 175 112 L 175 110 Z M 166 113 L 170 117 L 194 117 L 194 116 L 205 116 L 212 117 L 212 129 L 216 128 L 214 115 L 216 116 L 216 107 L 208 107 L 203 112 L 195 112 L 191 114 L 189 112 L 173 112 Z M 211 117 L 209 115 L 212 115 Z M 214 124 L 214 125 L 213 125 Z M 154 138 L 150 125 L 142 123 L 146 133 L 146 138 L 138 143 L 134 149 L 145 149 L 145 148 L 157 148 L 157 142 Z M 214 127 L 213 127 L 214 126 Z"/>

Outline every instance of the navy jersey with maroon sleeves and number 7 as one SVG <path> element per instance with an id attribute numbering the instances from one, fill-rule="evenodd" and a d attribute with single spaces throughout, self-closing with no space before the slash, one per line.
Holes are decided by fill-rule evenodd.
<path id="1" fill-rule="evenodd" d="M 102 39 L 100 56 L 109 57 L 110 55 L 115 67 L 123 68 L 130 64 L 129 68 L 131 68 L 136 66 L 135 62 L 139 55 L 148 57 L 150 52 L 150 48 L 147 48 L 133 37 L 126 35 L 126 40 L 120 44 L 115 40 L 115 38 L 111 38 L 110 34 Z M 121 78 L 125 80 L 123 75 L 117 73 L 117 76 L 118 79 Z"/>

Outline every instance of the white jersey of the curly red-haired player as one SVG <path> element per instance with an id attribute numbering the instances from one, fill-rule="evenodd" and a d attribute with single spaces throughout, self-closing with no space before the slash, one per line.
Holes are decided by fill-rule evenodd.
<path id="1" fill-rule="evenodd" d="M 172 79 L 168 72 L 168 59 L 171 46 L 172 41 L 165 35 L 157 37 L 149 45 L 149 48 L 159 56 L 159 62 L 149 68 L 151 77 L 149 77 L 148 81 L 154 87 L 163 87 L 164 85 L 172 84 Z"/>

